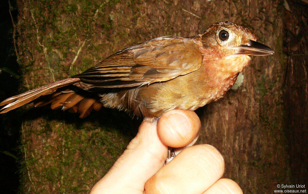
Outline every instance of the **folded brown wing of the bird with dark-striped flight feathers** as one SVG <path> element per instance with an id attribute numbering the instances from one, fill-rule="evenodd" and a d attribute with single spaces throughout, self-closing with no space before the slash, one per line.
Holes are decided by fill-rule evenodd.
<path id="1" fill-rule="evenodd" d="M 199 47 L 190 39 L 160 37 L 119 51 L 87 71 L 79 87 L 136 87 L 167 81 L 197 70 L 202 63 Z"/>

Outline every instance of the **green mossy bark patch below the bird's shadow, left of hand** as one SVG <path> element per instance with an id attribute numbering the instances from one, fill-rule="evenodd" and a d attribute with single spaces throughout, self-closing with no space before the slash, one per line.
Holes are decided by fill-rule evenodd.
<path id="1" fill-rule="evenodd" d="M 79 130 L 76 130 L 75 123 L 68 124 L 64 120 L 43 119 L 38 124 L 39 127 L 34 129 L 30 121 L 25 122 L 25 144 L 20 147 L 26 156 L 22 164 L 26 168 L 21 172 L 30 173 L 31 187 L 35 187 L 38 193 L 50 192 L 47 182 L 54 184 L 54 189 L 60 193 L 88 192 L 86 185 L 96 180 L 98 174 L 103 176 L 129 142 L 112 128 L 103 129 L 88 123 L 79 125 Z M 35 142 L 27 138 L 30 134 L 36 136 Z M 38 145 L 35 151 L 25 146 L 31 146 L 30 141 Z"/>

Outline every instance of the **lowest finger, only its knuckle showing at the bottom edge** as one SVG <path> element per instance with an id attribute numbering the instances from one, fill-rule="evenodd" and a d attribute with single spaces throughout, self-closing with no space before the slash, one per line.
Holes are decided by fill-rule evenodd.
<path id="1" fill-rule="evenodd" d="M 240 186 L 231 179 L 220 179 L 203 194 L 243 194 Z"/>

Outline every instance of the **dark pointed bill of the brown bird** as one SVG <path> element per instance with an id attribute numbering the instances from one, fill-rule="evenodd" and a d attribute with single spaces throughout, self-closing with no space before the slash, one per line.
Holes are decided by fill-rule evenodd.
<path id="1" fill-rule="evenodd" d="M 250 42 L 246 45 L 233 47 L 237 49 L 238 55 L 253 55 L 253 56 L 265 56 L 265 55 L 273 55 L 274 51 L 259 42 L 249 40 Z"/>

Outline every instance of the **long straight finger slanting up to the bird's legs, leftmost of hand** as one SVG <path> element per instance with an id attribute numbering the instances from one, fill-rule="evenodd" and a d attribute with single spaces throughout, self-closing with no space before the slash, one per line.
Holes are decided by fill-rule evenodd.
<path id="1" fill-rule="evenodd" d="M 93 193 L 142 193 L 145 182 L 163 165 L 167 147 L 157 136 L 156 125 L 141 123 L 127 149 L 107 174 L 92 188 Z"/>

